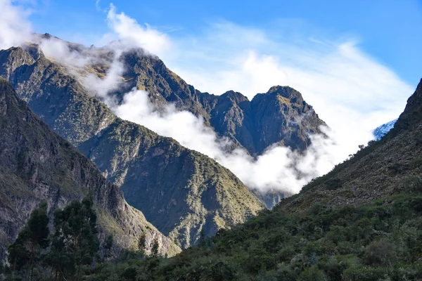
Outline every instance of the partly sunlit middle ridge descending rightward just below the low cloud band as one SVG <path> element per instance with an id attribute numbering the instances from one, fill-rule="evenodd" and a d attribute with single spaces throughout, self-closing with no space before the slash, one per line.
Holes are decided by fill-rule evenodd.
<path id="1" fill-rule="evenodd" d="M 125 199 L 181 247 L 263 209 L 229 170 L 172 138 L 117 118 L 37 45 L 0 51 L 0 75 L 41 119 L 91 159 Z"/>

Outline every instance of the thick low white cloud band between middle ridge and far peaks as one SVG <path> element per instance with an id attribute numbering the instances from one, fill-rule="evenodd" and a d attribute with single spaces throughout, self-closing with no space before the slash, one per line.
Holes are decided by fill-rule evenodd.
<path id="1" fill-rule="evenodd" d="M 217 137 L 203 120 L 191 112 L 179 111 L 170 105 L 164 111 L 155 110 L 148 93 L 133 89 L 124 96 L 121 105 L 109 104 L 121 117 L 148 127 L 162 136 L 170 136 L 181 145 L 197 150 L 226 166 L 250 188 L 275 188 L 298 192 L 312 178 L 329 171 L 337 159 L 331 158 L 329 139 L 313 136 L 314 144 L 306 155 L 284 147 L 270 148 L 253 159 L 244 150 L 226 152 L 226 139 Z"/>

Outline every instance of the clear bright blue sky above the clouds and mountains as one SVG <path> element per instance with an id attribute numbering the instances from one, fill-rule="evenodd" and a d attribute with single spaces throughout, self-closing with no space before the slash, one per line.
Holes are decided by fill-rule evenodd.
<path id="1" fill-rule="evenodd" d="M 98 6 L 107 9 L 110 1 Z M 274 37 L 298 34 L 331 40 L 353 38 L 399 77 L 416 85 L 422 77 L 422 1 L 113 1 L 139 23 L 172 37 L 195 36 L 211 22 L 265 30 Z M 31 5 L 37 32 L 90 44 L 107 32 L 105 13 L 96 1 L 44 0 Z M 94 43 L 94 42 L 92 42 Z"/>

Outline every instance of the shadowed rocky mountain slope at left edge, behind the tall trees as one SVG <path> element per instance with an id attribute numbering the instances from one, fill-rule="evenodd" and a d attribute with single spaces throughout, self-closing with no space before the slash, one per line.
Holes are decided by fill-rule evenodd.
<path id="1" fill-rule="evenodd" d="M 170 256 L 180 249 L 130 207 L 122 191 L 104 178 L 87 157 L 54 133 L 16 96 L 12 85 L 0 77 L 0 256 L 13 242 L 31 211 L 46 201 L 49 216 L 71 200 L 94 198 L 101 241 L 114 235 L 122 248 L 136 249 L 146 234 L 147 249 L 155 237 L 160 252 Z"/>

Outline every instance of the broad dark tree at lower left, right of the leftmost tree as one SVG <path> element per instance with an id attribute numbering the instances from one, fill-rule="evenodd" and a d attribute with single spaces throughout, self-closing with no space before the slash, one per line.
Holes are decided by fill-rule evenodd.
<path id="1" fill-rule="evenodd" d="M 63 210 L 56 210 L 54 227 L 56 232 L 48 257 L 49 265 L 58 275 L 75 275 L 79 280 L 81 267 L 92 263 L 99 249 L 96 228 L 96 213 L 91 197 L 82 202 L 70 202 Z"/>

